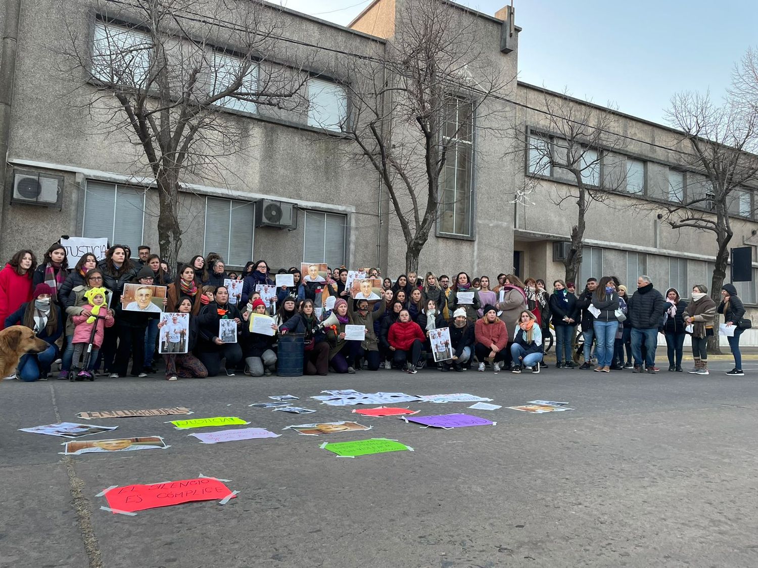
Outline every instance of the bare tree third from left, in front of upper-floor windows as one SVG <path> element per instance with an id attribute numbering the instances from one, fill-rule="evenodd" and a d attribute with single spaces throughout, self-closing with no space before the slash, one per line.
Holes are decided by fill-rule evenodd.
<path id="1" fill-rule="evenodd" d="M 576 282 L 584 253 L 587 211 L 594 203 L 603 203 L 609 191 L 622 189 L 626 183 L 624 158 L 615 156 L 625 146 L 625 139 L 615 134 L 618 118 L 606 109 L 584 105 L 565 93 L 546 92 L 543 108 L 530 125 L 515 126 L 515 146 L 511 155 L 526 151 L 528 172 L 525 186 L 515 192 L 516 201 L 526 201 L 540 190 L 546 177 L 554 186 L 550 201 L 559 207 L 575 204 L 576 222 L 572 226 L 570 248 L 563 260 L 566 282 Z M 600 163 L 606 173 L 600 175 Z"/>

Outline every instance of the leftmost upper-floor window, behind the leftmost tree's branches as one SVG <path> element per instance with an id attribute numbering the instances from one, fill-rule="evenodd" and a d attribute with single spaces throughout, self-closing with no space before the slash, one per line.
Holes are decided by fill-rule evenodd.
<path id="1" fill-rule="evenodd" d="M 152 39 L 146 33 L 95 23 L 92 76 L 105 83 L 143 86 L 150 67 Z"/>

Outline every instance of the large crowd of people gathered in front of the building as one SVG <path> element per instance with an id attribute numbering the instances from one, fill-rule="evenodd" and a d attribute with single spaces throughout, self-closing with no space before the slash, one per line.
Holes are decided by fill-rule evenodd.
<path id="1" fill-rule="evenodd" d="M 465 272 L 452 279 L 428 272 L 423 279 L 407 273 L 381 280 L 381 271 L 371 268 L 367 276 L 381 280 L 381 289 L 367 287 L 354 298 L 345 267 L 321 276 L 312 265 L 305 275 L 297 267 L 278 270 L 293 275 L 293 286 L 279 286 L 267 302 L 257 285 L 275 285 L 276 274 L 265 261 L 249 262 L 234 273 L 227 272 L 220 255 L 198 254 L 172 275 L 149 247 L 140 246 L 137 253 L 133 259 L 129 247 L 113 245 L 101 261 L 84 254 L 74 267 L 60 242 L 39 264 L 33 251 L 13 255 L 0 271 L 0 326 L 30 327 L 49 344 L 21 358 L 17 379 L 45 379 L 57 360 L 59 379 L 82 370 L 111 378 L 157 374 L 161 329 L 166 345 L 186 346 L 162 354 L 168 380 L 222 372 L 271 376 L 277 372 L 277 345 L 287 334 L 302 335 L 302 372 L 308 375 L 381 368 L 417 373 L 423 367 L 539 373 L 547 367 L 545 340 L 553 332 L 557 368 L 577 367 L 581 349 L 579 369 L 599 373 L 658 372 L 659 333 L 666 337 L 669 371 L 682 372 L 684 338 L 690 335 L 694 368 L 688 372 L 707 375 L 706 342 L 718 333 L 717 314 L 728 328 L 734 326 L 728 342 L 735 368 L 726 374 L 744 374 L 739 342 L 750 325 L 731 284 L 723 286 L 716 305 L 703 284 L 685 300 L 673 288 L 661 294 L 648 276 L 637 279 L 633 293 L 615 276 L 603 276 L 588 279 L 577 294 L 572 282 L 560 279 L 550 292 L 543 279 L 522 282 L 513 274 L 471 280 Z M 239 296 L 230 295 L 229 281 L 241 282 Z M 189 320 L 186 337 L 161 320 L 160 308 L 122 308 L 127 283 L 165 286 L 164 311 L 186 314 L 181 316 Z M 273 318 L 271 333 L 251 331 L 251 318 L 259 316 Z M 365 326 L 365 339 L 348 339 L 347 325 Z M 434 344 L 435 330 L 442 328 L 449 329 L 449 344 Z M 439 361 L 435 350 L 442 355 Z"/>

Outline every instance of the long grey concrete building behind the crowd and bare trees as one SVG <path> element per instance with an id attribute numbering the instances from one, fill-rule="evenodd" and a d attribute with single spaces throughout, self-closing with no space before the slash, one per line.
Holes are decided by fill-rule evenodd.
<path id="1" fill-rule="evenodd" d="M 344 61 L 370 60 L 392 45 L 409 2 L 376 0 L 350 27 L 265 5 L 286 31 L 287 54 L 293 61 L 305 61 L 296 73 L 303 79 L 306 104 L 287 110 L 233 104 L 219 109 L 230 128 L 246 133 L 246 149 L 224 158 L 224 170 L 230 173 L 224 183 L 211 172 L 186 180 L 180 257 L 215 251 L 230 267 L 264 258 L 271 267 L 308 261 L 378 266 L 385 275 L 404 271 L 405 243 L 380 176 L 345 158 L 351 142 L 340 136 L 339 124 L 351 103 L 339 81 L 349 80 L 340 74 L 346 69 Z M 92 50 L 104 27 L 121 27 L 124 33 L 139 30 L 130 27 L 127 17 L 109 20 L 99 11 L 101 5 L 86 0 L 70 2 L 65 18 L 59 17 L 59 5 L 52 0 L 39 0 L 33 11 L 19 11 L 19 0 L 2 5 L 0 25 L 9 38 L 17 30 L 17 41 L 4 43 L 0 69 L 3 77 L 11 67 L 15 71 L 12 87 L 5 96 L 0 92 L 0 148 L 8 151 L 0 257 L 7 259 L 27 246 L 41 254 L 61 235 L 106 236 L 130 245 L 135 256 L 143 242 L 157 249 L 158 204 L 149 168 L 126 136 L 98 131 L 86 111 L 94 87 L 72 89 L 81 77 L 72 82 L 61 55 L 72 27 Z M 475 31 L 478 48 L 504 77 L 516 76 L 522 32 L 509 17 L 509 8 L 490 16 L 440 0 L 440 10 Z M 287 61 L 276 64 L 286 66 Z M 256 76 L 264 76 L 271 65 L 262 61 Z M 542 111 L 551 98 L 562 95 L 513 81 L 491 103 L 497 108 L 488 111 L 506 117 L 501 119 L 505 126 L 526 139 L 546 130 Z M 701 181 L 696 172 L 675 168 L 678 161 L 667 148 L 678 148 L 678 133 L 584 101 L 570 103 L 612 113 L 619 132 L 628 137 L 624 148 L 603 157 L 598 179 L 612 175 L 615 167 L 641 172 L 633 187 L 615 188 L 604 203 L 590 208 L 579 280 L 612 273 L 631 282 L 647 273 L 656 287 L 675 286 L 685 296 L 694 283 L 709 284 L 713 236 L 667 229 L 656 218 L 654 204 L 666 201 L 672 183 L 687 192 Z M 421 270 L 490 276 L 515 271 L 548 281 L 562 277 L 556 243 L 565 242 L 575 215 L 568 204 L 556 206 L 551 197 L 570 191 L 570 184 L 558 172 L 535 176 L 523 157 L 526 148 L 522 158 L 514 158 L 504 150 L 508 140 L 488 135 L 481 126 L 465 141 L 472 146 L 471 159 L 451 178 L 458 181 L 452 187 L 443 183 L 456 206 L 449 217 L 443 214 L 437 220 L 421 254 Z M 54 206 L 42 207 L 31 203 L 39 198 L 20 195 L 23 176 L 39 176 L 39 192 L 52 191 Z M 530 200 L 535 204 L 515 203 L 515 189 L 530 179 L 537 180 Z M 733 246 L 756 244 L 754 200 L 746 188 L 735 201 Z M 753 251 L 753 273 L 758 276 L 756 260 Z M 758 307 L 756 280 L 738 286 L 753 307 Z"/>

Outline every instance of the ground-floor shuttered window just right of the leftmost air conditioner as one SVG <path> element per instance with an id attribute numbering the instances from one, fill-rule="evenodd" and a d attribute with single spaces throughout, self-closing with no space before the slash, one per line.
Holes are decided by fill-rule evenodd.
<path id="1" fill-rule="evenodd" d="M 82 236 L 108 237 L 111 245 L 127 245 L 136 256 L 143 244 L 145 189 L 87 181 Z"/>

